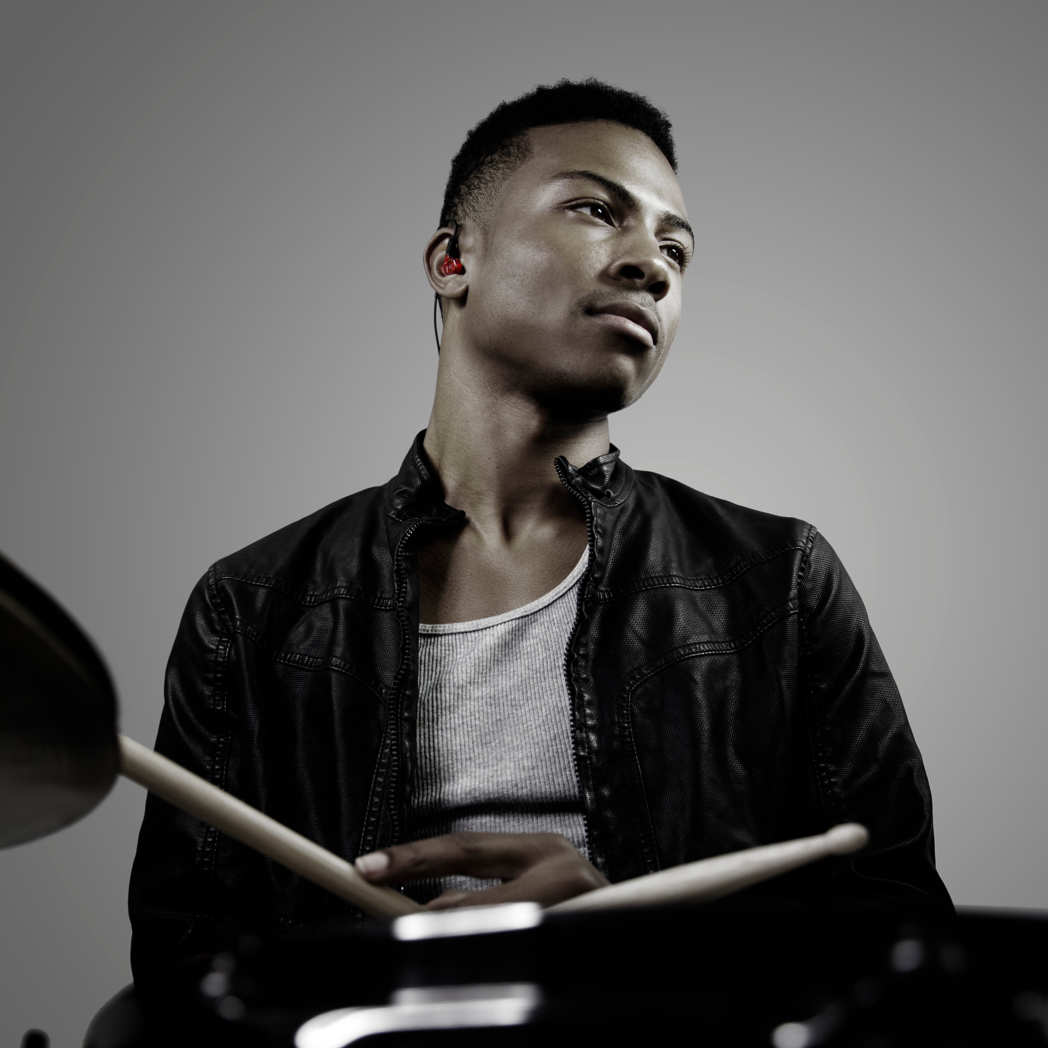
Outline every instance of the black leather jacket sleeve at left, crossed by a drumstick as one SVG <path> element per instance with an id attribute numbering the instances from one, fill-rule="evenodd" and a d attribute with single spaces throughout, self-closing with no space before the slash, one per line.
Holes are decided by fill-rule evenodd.
<path id="1" fill-rule="evenodd" d="M 209 572 L 179 626 L 165 679 L 156 751 L 223 786 L 230 745 L 230 632 Z M 150 793 L 131 870 L 131 967 L 136 982 L 168 962 L 213 951 L 218 833 Z"/>

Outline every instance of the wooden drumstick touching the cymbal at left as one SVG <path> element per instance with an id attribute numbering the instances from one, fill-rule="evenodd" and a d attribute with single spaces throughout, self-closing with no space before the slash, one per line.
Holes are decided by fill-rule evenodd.
<path id="1" fill-rule="evenodd" d="M 117 736 L 117 742 L 121 772 L 128 779 L 373 917 L 391 920 L 422 909 L 391 888 L 370 883 L 344 858 L 212 786 L 180 764 L 127 736 Z"/>

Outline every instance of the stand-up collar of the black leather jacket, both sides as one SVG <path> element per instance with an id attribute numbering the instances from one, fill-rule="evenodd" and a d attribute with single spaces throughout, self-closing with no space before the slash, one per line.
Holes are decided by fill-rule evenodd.
<path id="1" fill-rule="evenodd" d="M 461 509 L 452 509 L 444 502 L 443 485 L 422 446 L 424 439 L 422 430 L 405 456 L 400 472 L 390 481 L 387 512 L 398 521 L 411 518 L 450 521 L 463 517 Z M 566 485 L 602 505 L 616 506 L 629 495 L 633 474 L 619 460 L 619 454 L 612 444 L 607 455 L 598 455 L 585 465 L 573 466 L 563 455 L 554 460 L 554 465 Z"/>

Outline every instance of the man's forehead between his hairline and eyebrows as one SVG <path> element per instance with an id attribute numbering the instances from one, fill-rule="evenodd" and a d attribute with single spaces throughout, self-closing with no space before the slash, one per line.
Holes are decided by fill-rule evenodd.
<path id="1" fill-rule="evenodd" d="M 645 206 L 686 217 L 670 161 L 640 131 L 610 121 L 556 124 L 528 132 L 531 153 L 509 181 L 526 191 L 565 171 L 593 171 L 619 182 Z"/>

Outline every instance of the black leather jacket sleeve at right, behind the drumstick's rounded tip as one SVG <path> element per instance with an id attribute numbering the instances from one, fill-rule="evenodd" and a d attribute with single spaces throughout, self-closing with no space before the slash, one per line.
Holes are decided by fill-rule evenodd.
<path id="1" fill-rule="evenodd" d="M 866 608 L 813 533 L 799 587 L 801 686 L 827 825 L 857 822 L 870 844 L 838 860 L 846 894 L 908 910 L 953 908 L 935 869 L 932 794 L 898 689 Z"/>

